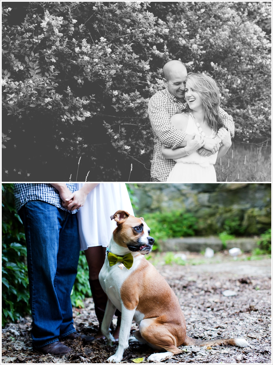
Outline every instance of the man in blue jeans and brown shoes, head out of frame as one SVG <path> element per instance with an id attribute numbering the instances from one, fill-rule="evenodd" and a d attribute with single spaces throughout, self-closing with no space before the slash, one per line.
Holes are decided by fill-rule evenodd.
<path id="1" fill-rule="evenodd" d="M 32 313 L 32 346 L 43 354 L 60 355 L 70 347 L 59 339 L 80 335 L 73 326 L 70 293 L 77 275 L 79 234 L 76 212 L 82 192 L 63 202 L 75 184 L 14 184 L 16 210 L 25 227 Z M 86 193 L 87 195 L 87 193 Z M 86 198 L 86 196 L 85 196 Z M 86 342 L 92 336 L 81 336 Z"/>

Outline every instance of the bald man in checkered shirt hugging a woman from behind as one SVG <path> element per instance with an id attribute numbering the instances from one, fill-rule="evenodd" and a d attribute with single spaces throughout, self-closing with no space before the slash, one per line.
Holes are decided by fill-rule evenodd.
<path id="1" fill-rule="evenodd" d="M 151 97 L 148 105 L 148 115 L 152 125 L 154 135 L 153 160 L 151 166 L 152 181 L 166 181 L 175 161 L 166 159 L 161 154 L 161 143 L 172 149 L 185 147 L 193 135 L 186 134 L 175 127 L 170 122 L 171 117 L 182 110 L 185 106 L 185 80 L 187 69 L 178 60 L 167 62 L 163 66 L 164 90 L 160 90 Z M 220 115 L 225 126 L 229 127 L 231 138 L 234 137 L 233 118 L 220 108 Z M 216 153 L 221 145 L 219 137 L 212 139 L 206 137 L 204 147 L 199 153 L 206 156 Z"/>

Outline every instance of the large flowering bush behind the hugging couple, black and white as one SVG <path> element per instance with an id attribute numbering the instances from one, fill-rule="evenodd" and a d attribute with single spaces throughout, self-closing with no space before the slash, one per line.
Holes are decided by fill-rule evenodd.
<path id="1" fill-rule="evenodd" d="M 270 6 L 30 2 L 20 26 L 9 26 L 12 10 L 2 9 L 3 125 L 8 116 L 18 128 L 43 115 L 52 130 L 48 151 L 86 154 L 102 171 L 114 148 L 149 170 L 148 100 L 163 88 L 164 63 L 181 59 L 188 72 L 217 80 L 235 138 L 268 138 L 270 41 L 257 22 L 269 18 Z M 97 140 L 109 147 L 98 150 Z M 98 173 L 101 180 L 119 176 L 117 166 Z"/>

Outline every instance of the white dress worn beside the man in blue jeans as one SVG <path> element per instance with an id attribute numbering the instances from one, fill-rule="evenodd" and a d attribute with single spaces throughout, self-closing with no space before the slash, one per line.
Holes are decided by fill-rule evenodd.
<path id="1" fill-rule="evenodd" d="M 77 185 L 78 190 L 84 183 Z M 110 216 L 120 209 L 134 215 L 125 183 L 100 183 L 87 195 L 85 205 L 77 212 L 81 250 L 108 246 L 117 227 Z"/>

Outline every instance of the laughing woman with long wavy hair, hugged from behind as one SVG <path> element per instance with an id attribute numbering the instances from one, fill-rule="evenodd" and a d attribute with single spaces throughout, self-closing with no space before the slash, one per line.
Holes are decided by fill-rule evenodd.
<path id="1" fill-rule="evenodd" d="M 187 107 L 171 118 L 173 126 L 187 134 L 194 135 L 186 147 L 172 150 L 161 145 L 165 158 L 177 163 L 171 170 L 168 182 L 215 182 L 216 160 L 227 153 L 231 146 L 229 130 L 223 126 L 219 114 L 219 89 L 216 82 L 204 74 L 190 74 L 186 78 L 185 99 Z M 199 153 L 205 138 L 219 137 L 222 146 L 215 154 Z"/>

